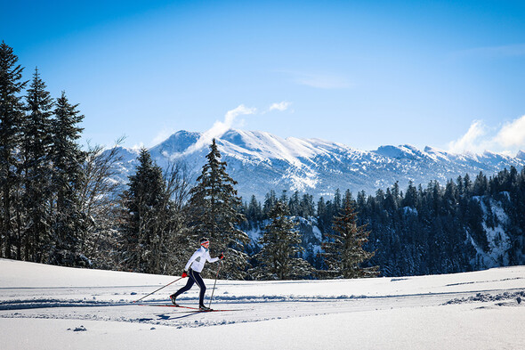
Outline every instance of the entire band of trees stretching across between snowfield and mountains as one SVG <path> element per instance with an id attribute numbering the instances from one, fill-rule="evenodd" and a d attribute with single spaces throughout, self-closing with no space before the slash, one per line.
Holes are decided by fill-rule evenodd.
<path id="1" fill-rule="evenodd" d="M 0 45 L 0 257 L 178 274 L 198 238 L 226 258 L 226 279 L 457 273 L 525 264 L 525 169 L 445 185 L 395 183 L 374 195 L 270 191 L 238 198 L 215 142 L 196 180 L 142 149 L 127 183 L 117 147 L 80 147 L 85 118 L 53 98 L 38 69 L 22 79 Z M 118 142 L 117 142 L 118 144 Z M 246 233 L 247 232 L 247 233 Z M 251 241 L 256 232 L 258 240 Z M 207 270 L 208 276 L 214 272 Z"/>

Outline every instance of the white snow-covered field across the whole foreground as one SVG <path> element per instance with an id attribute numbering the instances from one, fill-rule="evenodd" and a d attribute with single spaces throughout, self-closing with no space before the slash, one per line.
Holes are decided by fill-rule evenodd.
<path id="1" fill-rule="evenodd" d="M 525 266 L 338 281 L 185 281 L 0 259 L 2 349 L 523 349 Z M 214 281 L 206 281 L 211 294 Z M 180 297 L 198 305 L 198 288 Z"/>

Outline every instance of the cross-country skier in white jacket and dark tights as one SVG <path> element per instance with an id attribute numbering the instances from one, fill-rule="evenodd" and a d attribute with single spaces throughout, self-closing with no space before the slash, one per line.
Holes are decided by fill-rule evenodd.
<path id="1" fill-rule="evenodd" d="M 186 264 L 186 267 L 184 267 L 184 272 L 182 273 L 182 278 L 190 277 L 188 283 L 186 283 L 186 285 L 182 287 L 182 289 L 177 290 L 177 292 L 170 296 L 170 299 L 172 300 L 172 303 L 174 303 L 175 306 L 179 306 L 176 303 L 176 298 L 179 297 L 185 291 L 190 290 L 193 286 L 193 283 L 197 283 L 198 288 L 200 288 L 198 309 L 200 311 L 211 310 L 209 307 L 206 307 L 204 305 L 204 294 L 206 292 L 206 286 L 204 284 L 204 281 L 202 281 L 202 278 L 200 277 L 200 273 L 202 272 L 202 269 L 206 264 L 206 260 L 210 263 L 214 263 L 216 261 L 222 260 L 224 258 L 224 254 L 221 253 L 220 256 L 212 258 L 208 249 L 209 246 L 210 240 L 208 240 L 207 238 L 200 239 L 200 248 L 198 248 L 197 251 L 193 253 L 193 255 L 190 257 L 190 260 L 188 261 L 188 264 Z"/>

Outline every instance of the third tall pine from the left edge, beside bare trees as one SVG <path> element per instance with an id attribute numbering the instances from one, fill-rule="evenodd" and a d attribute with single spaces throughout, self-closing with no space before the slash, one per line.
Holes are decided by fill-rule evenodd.
<path id="1" fill-rule="evenodd" d="M 77 250 L 83 231 L 87 229 L 79 200 L 79 190 L 84 181 L 85 152 L 76 142 L 83 130 L 77 124 L 84 116 L 80 115 L 77 106 L 70 104 L 62 92 L 56 101 L 55 119 L 52 120 L 52 262 L 58 265 L 78 265 L 82 262 L 78 259 Z"/>

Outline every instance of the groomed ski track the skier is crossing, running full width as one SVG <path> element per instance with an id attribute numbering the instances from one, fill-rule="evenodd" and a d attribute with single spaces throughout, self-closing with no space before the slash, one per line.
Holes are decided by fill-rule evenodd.
<path id="1" fill-rule="evenodd" d="M 398 280 L 392 279 L 392 281 Z M 466 282 L 466 284 L 468 283 L 470 282 Z M 130 289 L 133 291 L 130 292 Z M 182 329 L 243 322 L 264 322 L 331 313 L 359 313 L 425 306 L 446 307 L 451 304 L 475 302 L 481 303 L 481 307 L 525 305 L 525 303 L 521 304 L 521 298 L 525 299 L 525 289 L 493 289 L 392 296 L 235 297 L 220 295 L 214 297 L 212 307 L 232 311 L 217 313 L 201 313 L 174 307 L 153 307 L 153 305 L 169 305 L 166 296 L 150 297 L 141 301 L 140 304 L 133 304 L 135 299 L 147 295 L 150 289 L 152 286 L 4 288 L 0 289 L 0 317 L 138 322 Z M 78 298 L 80 292 L 83 293 L 80 294 L 82 298 Z M 77 299 L 72 298 L 73 296 Z M 197 297 L 181 297 L 180 301 L 182 305 L 198 305 Z"/>

